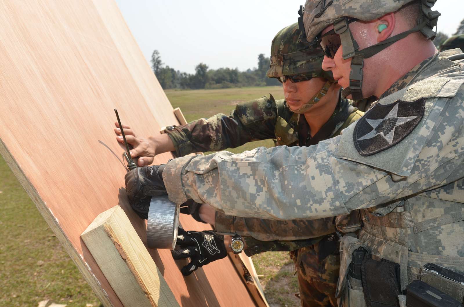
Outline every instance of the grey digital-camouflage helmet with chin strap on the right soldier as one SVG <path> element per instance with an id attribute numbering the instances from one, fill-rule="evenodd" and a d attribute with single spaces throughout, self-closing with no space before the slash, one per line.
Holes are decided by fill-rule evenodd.
<path id="1" fill-rule="evenodd" d="M 409 2 L 420 1 L 418 25 L 397 34 L 378 44 L 359 50 L 348 23 L 355 20 L 369 21 L 378 19 L 387 13 L 398 11 Z M 342 96 L 352 95 L 354 100 L 361 100 L 362 67 L 364 59 L 382 51 L 394 42 L 405 38 L 412 32 L 420 31 L 427 39 L 433 39 L 436 32 L 438 11 L 432 11 L 436 0 L 307 0 L 303 12 L 303 27 L 307 41 L 316 44 L 320 33 L 326 27 L 334 25 L 335 34 L 340 36 L 343 46 L 343 59 L 351 58 L 350 86 L 342 91 Z M 325 35 L 325 34 L 324 34 Z"/>

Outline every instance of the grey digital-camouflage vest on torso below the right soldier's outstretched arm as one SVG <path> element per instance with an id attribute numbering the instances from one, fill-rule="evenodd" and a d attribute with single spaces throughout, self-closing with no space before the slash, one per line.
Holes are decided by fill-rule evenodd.
<path id="1" fill-rule="evenodd" d="M 372 255 L 400 264 L 402 289 L 418 279 L 419 269 L 428 262 L 464 273 L 463 187 L 461 179 L 362 210 L 361 242 Z M 441 256 L 443 251 L 448 256 Z"/>

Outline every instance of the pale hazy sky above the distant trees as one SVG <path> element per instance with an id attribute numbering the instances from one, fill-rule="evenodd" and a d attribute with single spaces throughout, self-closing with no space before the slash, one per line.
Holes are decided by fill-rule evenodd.
<path id="1" fill-rule="evenodd" d="M 149 61 L 153 50 L 164 64 L 193 73 L 209 68 L 257 66 L 269 57 L 277 32 L 297 21 L 304 0 L 116 0 L 132 34 Z M 456 32 L 464 18 L 464 0 L 439 0 L 438 31 Z"/>

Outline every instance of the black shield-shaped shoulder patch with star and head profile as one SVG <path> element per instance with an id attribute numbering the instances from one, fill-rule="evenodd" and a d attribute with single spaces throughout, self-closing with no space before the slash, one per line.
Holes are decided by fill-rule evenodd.
<path id="1" fill-rule="evenodd" d="M 354 147 L 362 156 L 377 154 L 403 140 L 424 116 L 425 98 L 376 104 L 356 123 Z"/>

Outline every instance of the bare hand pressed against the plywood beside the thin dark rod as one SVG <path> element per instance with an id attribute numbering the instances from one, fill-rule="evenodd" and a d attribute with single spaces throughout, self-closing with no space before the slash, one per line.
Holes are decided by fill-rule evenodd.
<path id="1" fill-rule="evenodd" d="M 124 144 L 119 124 L 115 122 L 115 125 L 115 133 L 117 135 L 116 141 Z M 127 142 L 134 147 L 134 149 L 130 150 L 131 158 L 139 157 L 137 162 L 138 166 L 147 166 L 152 164 L 156 155 L 155 140 L 150 137 L 144 138 L 136 135 L 129 126 L 122 125 L 122 129 L 124 130 Z"/>

